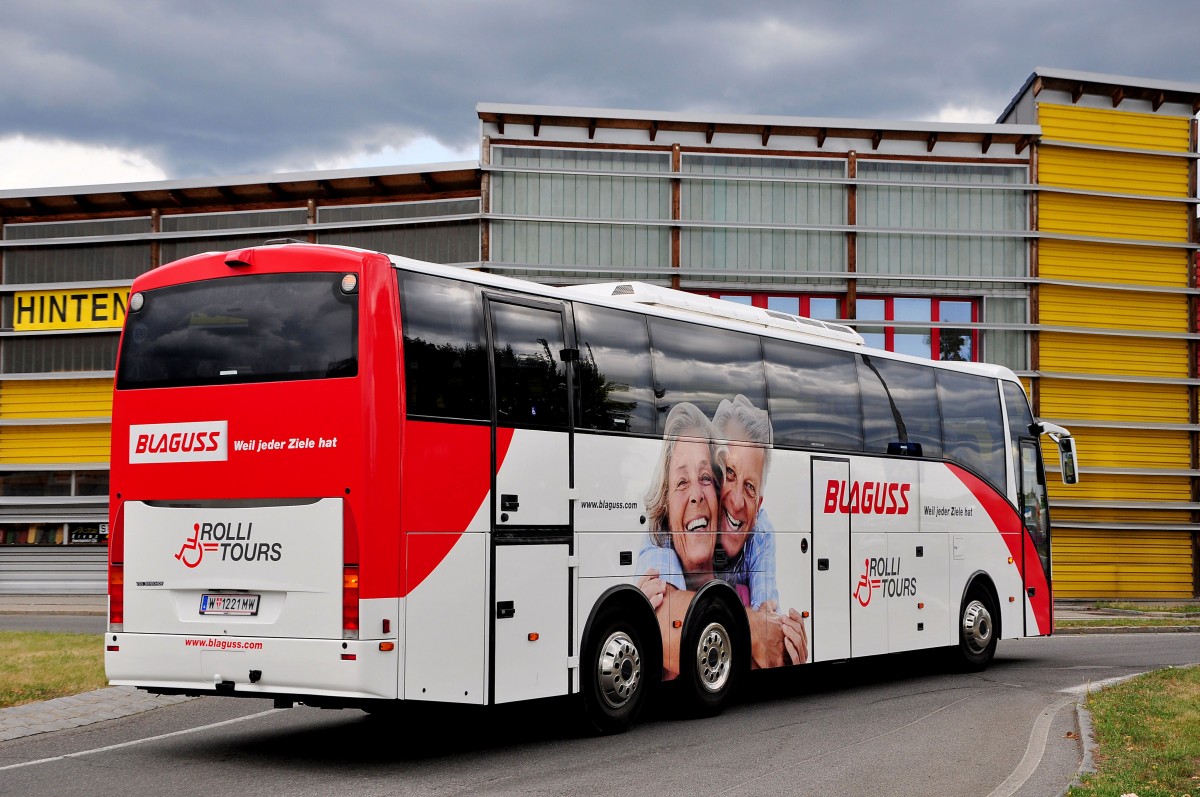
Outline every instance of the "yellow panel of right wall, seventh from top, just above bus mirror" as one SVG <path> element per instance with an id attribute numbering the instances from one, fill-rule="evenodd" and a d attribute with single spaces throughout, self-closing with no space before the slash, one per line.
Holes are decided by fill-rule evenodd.
<path id="1" fill-rule="evenodd" d="M 1038 394 L 1042 401 L 1038 413 L 1049 419 L 1188 423 L 1187 385 L 1114 384 L 1046 377 L 1042 379 Z M 1121 433 L 1146 432 L 1124 430 Z"/>

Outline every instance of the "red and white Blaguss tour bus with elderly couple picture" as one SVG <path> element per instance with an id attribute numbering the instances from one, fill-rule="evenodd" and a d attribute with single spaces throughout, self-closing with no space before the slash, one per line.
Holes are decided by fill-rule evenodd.
<path id="1" fill-rule="evenodd" d="M 1018 378 L 637 282 L 552 288 L 346 247 L 132 287 L 113 401 L 113 684 L 367 711 L 1052 628 Z"/>

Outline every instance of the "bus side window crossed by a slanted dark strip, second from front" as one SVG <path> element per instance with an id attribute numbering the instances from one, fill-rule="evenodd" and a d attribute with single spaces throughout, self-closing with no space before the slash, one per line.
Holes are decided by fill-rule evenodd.
<path id="1" fill-rule="evenodd" d="M 858 358 L 865 450 L 888 454 L 894 444 L 916 443 L 923 456 L 942 456 L 934 368 L 866 354 Z"/>

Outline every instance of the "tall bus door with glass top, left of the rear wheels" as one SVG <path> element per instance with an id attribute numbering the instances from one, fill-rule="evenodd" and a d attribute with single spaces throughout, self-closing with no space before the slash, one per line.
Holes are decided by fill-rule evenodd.
<path id="1" fill-rule="evenodd" d="M 491 694 L 569 691 L 571 391 L 560 302 L 487 295 L 492 390 Z"/>

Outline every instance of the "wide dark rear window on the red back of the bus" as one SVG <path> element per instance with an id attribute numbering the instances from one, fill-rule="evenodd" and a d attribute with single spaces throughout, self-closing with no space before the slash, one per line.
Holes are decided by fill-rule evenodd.
<path id="1" fill-rule="evenodd" d="M 263 274 L 143 293 L 116 386 L 169 388 L 358 374 L 358 294 L 341 274 Z"/>

